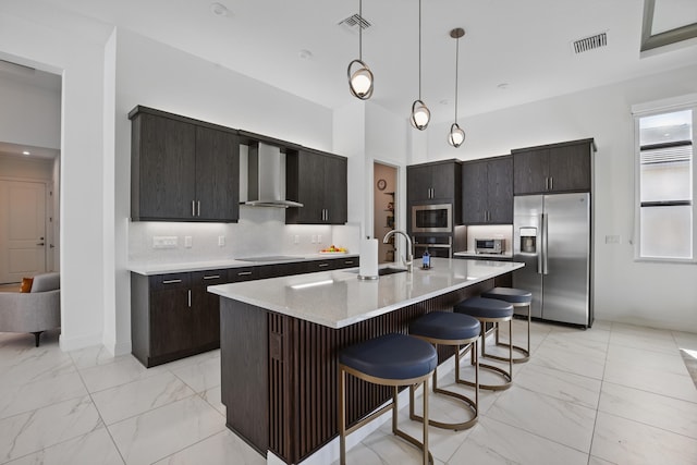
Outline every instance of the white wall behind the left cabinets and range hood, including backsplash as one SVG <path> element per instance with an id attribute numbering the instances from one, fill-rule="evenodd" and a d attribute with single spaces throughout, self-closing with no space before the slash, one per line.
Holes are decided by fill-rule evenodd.
<path id="1" fill-rule="evenodd" d="M 127 113 L 137 105 L 291 140 L 320 150 L 332 150 L 332 113 L 236 72 L 193 57 L 127 29 L 117 34 L 115 78 L 115 347 L 130 342 L 131 259 L 176 261 L 240 257 L 273 253 L 318 252 L 311 235 L 329 241 L 328 227 L 285 227 L 281 210 L 243 208 L 239 224 L 180 224 L 130 222 L 131 122 Z M 342 154 L 343 155 L 343 154 Z M 152 235 L 194 237 L 191 249 L 152 250 Z M 218 235 L 227 246 L 218 247 Z M 292 236 L 299 235 L 295 245 Z"/>

